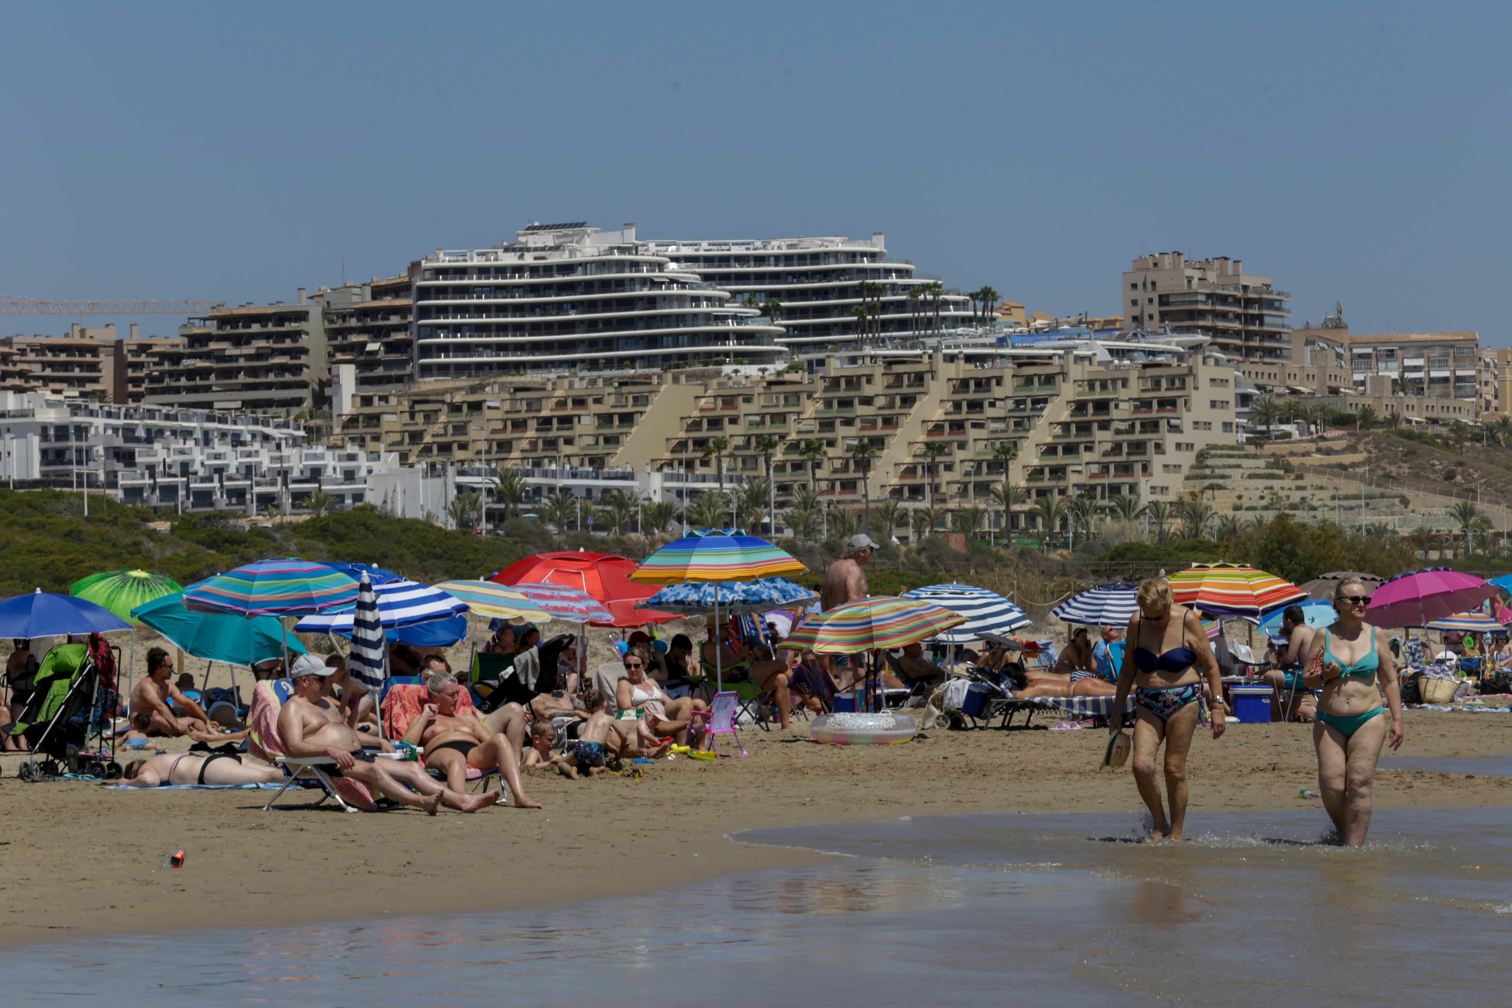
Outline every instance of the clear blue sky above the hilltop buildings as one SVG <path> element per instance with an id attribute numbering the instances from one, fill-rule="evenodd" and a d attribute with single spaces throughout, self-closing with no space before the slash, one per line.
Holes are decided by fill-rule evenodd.
<path id="1" fill-rule="evenodd" d="M 0 292 L 292 301 L 343 252 L 635 221 L 885 231 L 1058 314 L 1117 311 L 1142 251 L 1231 255 L 1297 325 L 1504 346 L 1509 11 L 11 3 Z"/>

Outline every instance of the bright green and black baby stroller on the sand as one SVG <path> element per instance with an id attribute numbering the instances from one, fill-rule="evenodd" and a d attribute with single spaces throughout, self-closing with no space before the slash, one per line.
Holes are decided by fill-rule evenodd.
<path id="1" fill-rule="evenodd" d="M 89 736 L 103 736 L 101 718 L 113 706 L 100 682 L 100 666 L 85 644 L 59 644 L 42 659 L 32 700 L 11 727 L 26 737 L 32 754 L 18 777 L 26 781 L 54 780 L 60 774 L 83 774 L 119 780 L 121 765 L 110 753 L 85 751 Z M 38 762 L 38 754 L 47 757 Z"/>

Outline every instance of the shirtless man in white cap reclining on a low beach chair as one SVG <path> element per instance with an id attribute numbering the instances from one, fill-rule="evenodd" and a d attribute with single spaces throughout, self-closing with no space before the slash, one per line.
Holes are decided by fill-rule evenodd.
<path id="1" fill-rule="evenodd" d="M 384 798 L 422 809 L 429 816 L 435 815 L 442 801 L 463 812 L 478 812 L 499 801 L 502 793 L 497 790 L 460 795 L 442 787 L 419 763 L 375 760 L 363 750 L 357 731 L 342 718 L 342 709 L 327 695 L 325 677 L 333 671 L 336 669 L 314 654 L 301 654 L 289 669 L 293 697 L 278 712 L 278 734 L 283 736 L 289 756 L 330 756 L 336 760 L 336 768 L 328 771 L 333 777 L 360 780 Z M 420 793 L 416 795 L 416 790 Z"/>

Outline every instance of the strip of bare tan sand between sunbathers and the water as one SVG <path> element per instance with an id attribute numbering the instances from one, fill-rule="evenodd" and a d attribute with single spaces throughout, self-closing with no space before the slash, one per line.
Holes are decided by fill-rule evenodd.
<path id="1" fill-rule="evenodd" d="M 1501 756 L 1512 724 L 1406 712 L 1393 756 Z M 1243 728 L 1243 731 L 1240 731 Z M 1098 768 L 1102 733 L 931 731 L 907 745 L 824 747 L 792 731 L 741 736 L 748 759 L 680 759 L 646 777 L 531 775 L 541 812 L 262 812 L 269 792 L 115 792 L 23 784 L 0 757 L 0 946 L 94 934 L 265 928 L 490 913 L 658 892 L 833 857 L 729 837 L 748 828 L 898 816 L 1143 810 L 1128 769 Z M 729 741 L 721 741 L 729 751 Z M 1191 813 L 1296 810 L 1315 783 L 1311 725 L 1199 733 Z M 286 795 L 286 799 L 289 796 Z M 298 798 L 295 798 L 298 801 Z M 109 802 L 121 802 L 110 807 Z M 330 802 L 328 802 L 330 805 Z M 1377 809 L 1512 805 L 1512 778 L 1377 772 Z M 183 869 L 160 869 L 183 848 Z"/>

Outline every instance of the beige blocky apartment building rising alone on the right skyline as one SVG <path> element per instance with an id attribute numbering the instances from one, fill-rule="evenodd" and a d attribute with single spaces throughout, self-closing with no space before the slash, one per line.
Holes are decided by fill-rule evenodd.
<path id="1" fill-rule="evenodd" d="M 1129 329 L 1169 325 L 1211 335 L 1231 360 L 1291 360 L 1291 295 L 1246 274 L 1243 260 L 1140 255 L 1123 274 L 1120 304 Z"/>

